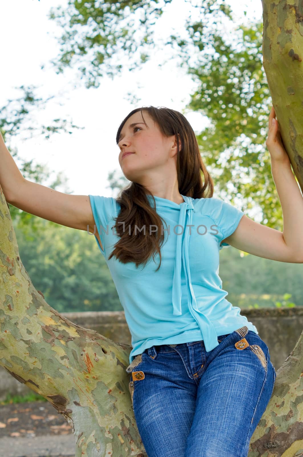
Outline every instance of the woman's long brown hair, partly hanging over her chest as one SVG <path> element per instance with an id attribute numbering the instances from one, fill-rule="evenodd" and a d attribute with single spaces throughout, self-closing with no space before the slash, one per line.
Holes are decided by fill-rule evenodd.
<path id="1" fill-rule="evenodd" d="M 179 151 L 179 141 L 177 141 L 177 176 L 178 187 L 181 195 L 192 198 L 210 198 L 214 193 L 214 183 L 206 170 L 201 159 L 199 145 L 193 128 L 186 117 L 178 111 L 166 107 L 156 108 L 155 106 L 142 106 L 131 111 L 121 122 L 118 128 L 116 143 L 119 143 L 121 129 L 127 119 L 135 112 L 147 111 L 149 116 L 157 122 L 162 134 L 166 137 L 176 135 L 181 138 L 181 150 Z M 178 137 L 178 134 L 180 135 Z M 204 183 L 202 180 L 204 177 Z M 152 197 L 154 207 L 152 208 L 147 195 Z M 115 244 L 115 249 L 111 252 L 109 260 L 115 255 L 122 263 L 135 262 L 136 268 L 143 264 L 146 265 L 148 259 L 155 255 L 160 255 L 160 248 L 164 242 L 164 231 L 162 222 L 165 221 L 155 210 L 156 202 L 151 192 L 145 186 L 136 182 L 131 182 L 128 186 L 120 190 L 116 201 L 120 204 L 120 213 L 115 218 L 115 230 L 120 236 L 120 240 Z M 124 222 L 124 223 L 122 223 Z M 146 230 L 138 231 L 142 227 L 156 226 L 157 231 Z M 126 229 L 125 229 L 126 228 Z M 132 236 L 130 236 L 132 235 Z M 134 236 L 135 235 L 135 236 Z"/>

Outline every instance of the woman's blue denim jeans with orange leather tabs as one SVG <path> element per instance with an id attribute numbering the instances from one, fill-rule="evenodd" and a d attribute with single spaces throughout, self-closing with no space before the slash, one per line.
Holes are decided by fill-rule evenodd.
<path id="1" fill-rule="evenodd" d="M 241 327 L 203 340 L 152 346 L 126 372 L 148 457 L 247 457 L 276 371 L 267 345 Z"/>

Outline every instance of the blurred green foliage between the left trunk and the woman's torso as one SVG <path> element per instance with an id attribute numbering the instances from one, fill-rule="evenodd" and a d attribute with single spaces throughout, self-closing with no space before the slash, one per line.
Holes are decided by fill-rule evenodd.
<path id="1" fill-rule="evenodd" d="M 35 216 L 33 216 L 35 217 Z M 94 236 L 83 230 L 39 222 L 24 235 L 13 221 L 20 258 L 37 290 L 59 313 L 115 311 L 121 304 Z"/>

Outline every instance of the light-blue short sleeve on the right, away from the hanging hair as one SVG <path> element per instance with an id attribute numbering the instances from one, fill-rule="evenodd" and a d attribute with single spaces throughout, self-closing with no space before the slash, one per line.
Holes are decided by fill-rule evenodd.
<path id="1" fill-rule="evenodd" d="M 219 250 L 223 247 L 229 247 L 230 244 L 222 243 L 222 239 L 227 238 L 234 233 L 239 222 L 245 213 L 234 207 L 230 203 L 224 202 L 220 198 L 209 198 L 211 204 L 211 217 L 214 219 L 220 231 Z"/>

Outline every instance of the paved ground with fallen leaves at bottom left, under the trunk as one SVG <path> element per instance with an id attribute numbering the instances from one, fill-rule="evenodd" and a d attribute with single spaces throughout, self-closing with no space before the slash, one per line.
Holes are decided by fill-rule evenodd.
<path id="1" fill-rule="evenodd" d="M 0 449 L 5 457 L 73 457 L 71 427 L 49 402 L 0 406 Z"/>

